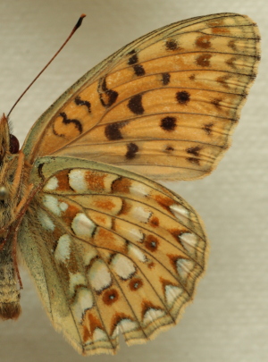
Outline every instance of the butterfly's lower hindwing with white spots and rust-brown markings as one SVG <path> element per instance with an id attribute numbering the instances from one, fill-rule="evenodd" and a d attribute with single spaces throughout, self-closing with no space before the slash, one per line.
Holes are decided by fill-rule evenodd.
<path id="1" fill-rule="evenodd" d="M 38 159 L 43 187 L 21 253 L 54 326 L 84 354 L 115 353 L 175 324 L 205 268 L 198 215 L 135 173 L 68 157 Z"/>

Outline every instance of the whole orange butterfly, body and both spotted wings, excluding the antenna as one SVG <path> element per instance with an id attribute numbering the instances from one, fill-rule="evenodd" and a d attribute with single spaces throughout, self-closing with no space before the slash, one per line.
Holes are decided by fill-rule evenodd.
<path id="1" fill-rule="evenodd" d="M 199 215 L 156 181 L 211 173 L 260 59 L 247 16 L 179 21 L 85 74 L 19 150 L 0 122 L 0 317 L 21 314 L 21 257 L 54 328 L 84 355 L 176 324 L 204 274 Z M 147 178 L 149 177 L 149 179 Z"/>

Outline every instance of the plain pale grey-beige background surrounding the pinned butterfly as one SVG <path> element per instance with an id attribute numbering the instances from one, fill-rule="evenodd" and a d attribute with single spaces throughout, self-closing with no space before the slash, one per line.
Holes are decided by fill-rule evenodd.
<path id="1" fill-rule="evenodd" d="M 177 327 L 147 345 L 128 348 L 121 343 L 116 357 L 88 360 L 268 360 L 268 5 L 264 0 L 0 1 L 0 111 L 5 113 L 62 44 L 80 13 L 88 15 L 13 112 L 13 131 L 21 142 L 65 88 L 119 47 L 170 22 L 222 12 L 254 19 L 264 49 L 259 75 L 227 156 L 204 180 L 168 185 L 202 215 L 211 240 L 207 273 Z M 86 360 L 54 332 L 28 274 L 21 276 L 23 314 L 16 323 L 0 324 L 0 361 Z"/>

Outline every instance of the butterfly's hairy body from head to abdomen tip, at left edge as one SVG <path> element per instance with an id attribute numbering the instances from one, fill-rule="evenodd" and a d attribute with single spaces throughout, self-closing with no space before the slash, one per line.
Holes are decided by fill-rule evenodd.
<path id="1" fill-rule="evenodd" d="M 21 200 L 23 167 L 19 144 L 9 132 L 3 116 L 0 122 L 0 318 L 16 319 L 21 313 L 17 283 L 15 225 Z"/>

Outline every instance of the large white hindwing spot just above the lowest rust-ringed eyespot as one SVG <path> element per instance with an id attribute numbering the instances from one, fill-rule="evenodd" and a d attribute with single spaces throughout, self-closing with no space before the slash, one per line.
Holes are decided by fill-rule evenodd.
<path id="1" fill-rule="evenodd" d="M 104 290 L 112 284 L 112 276 L 103 260 L 96 260 L 88 272 L 90 284 L 96 291 Z"/>

